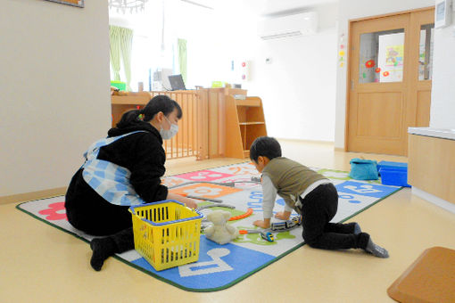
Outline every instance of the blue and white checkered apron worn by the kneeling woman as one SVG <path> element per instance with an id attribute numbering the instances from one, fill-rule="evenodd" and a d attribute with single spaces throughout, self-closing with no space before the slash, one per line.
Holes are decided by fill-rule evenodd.
<path id="1" fill-rule="evenodd" d="M 125 135 L 104 138 L 96 141 L 84 153 L 86 162 L 82 166 L 82 176 L 95 192 L 115 205 L 130 206 L 145 203 L 129 183 L 131 172 L 106 160 L 97 159 L 100 148 L 109 145 L 124 136 L 145 131 L 136 131 Z"/>

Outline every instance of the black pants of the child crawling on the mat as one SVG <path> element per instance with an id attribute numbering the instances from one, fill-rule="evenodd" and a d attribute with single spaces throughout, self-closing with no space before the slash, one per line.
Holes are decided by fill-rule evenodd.
<path id="1" fill-rule="evenodd" d="M 324 250 L 365 249 L 369 234 L 354 234 L 355 223 L 329 223 L 338 209 L 334 184 L 321 184 L 302 202 L 302 237 L 311 247 Z"/>

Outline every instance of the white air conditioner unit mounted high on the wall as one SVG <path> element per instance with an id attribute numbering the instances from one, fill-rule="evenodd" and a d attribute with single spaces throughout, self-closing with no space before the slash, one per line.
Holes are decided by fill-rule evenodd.
<path id="1" fill-rule="evenodd" d="M 258 34 L 263 40 L 298 37 L 316 33 L 318 12 L 302 12 L 260 20 Z"/>

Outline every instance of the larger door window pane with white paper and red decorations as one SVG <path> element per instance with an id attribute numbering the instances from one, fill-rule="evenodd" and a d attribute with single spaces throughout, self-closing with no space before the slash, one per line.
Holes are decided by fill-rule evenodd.
<path id="1" fill-rule="evenodd" d="M 401 82 L 404 29 L 360 35 L 359 83 Z"/>

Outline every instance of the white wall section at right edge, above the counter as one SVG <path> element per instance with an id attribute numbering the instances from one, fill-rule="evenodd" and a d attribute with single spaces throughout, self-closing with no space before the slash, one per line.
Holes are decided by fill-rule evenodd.
<path id="1" fill-rule="evenodd" d="M 430 127 L 455 129 L 455 12 L 449 27 L 434 29 Z"/>

